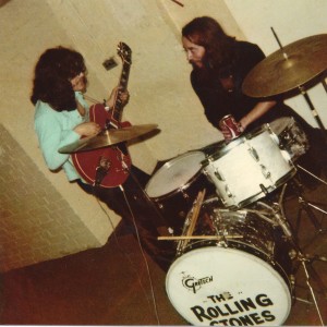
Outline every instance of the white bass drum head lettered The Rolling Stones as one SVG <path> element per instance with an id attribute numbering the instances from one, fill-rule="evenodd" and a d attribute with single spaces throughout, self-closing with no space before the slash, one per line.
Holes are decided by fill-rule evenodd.
<path id="1" fill-rule="evenodd" d="M 174 261 L 168 298 L 193 325 L 279 326 L 291 308 L 283 278 L 266 262 L 234 249 L 207 246 Z"/>

